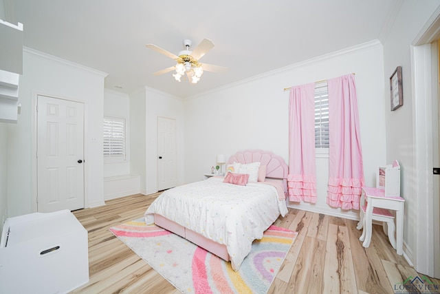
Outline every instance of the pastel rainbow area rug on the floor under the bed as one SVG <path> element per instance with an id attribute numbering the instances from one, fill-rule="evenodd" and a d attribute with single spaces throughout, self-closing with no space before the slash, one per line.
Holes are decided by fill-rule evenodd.
<path id="1" fill-rule="evenodd" d="M 182 293 L 267 293 L 298 233 L 271 226 L 233 271 L 230 262 L 144 218 L 110 228 Z"/>

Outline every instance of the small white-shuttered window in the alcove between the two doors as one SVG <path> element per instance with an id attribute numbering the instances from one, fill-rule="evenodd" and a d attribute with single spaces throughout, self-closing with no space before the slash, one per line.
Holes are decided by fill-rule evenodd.
<path id="1" fill-rule="evenodd" d="M 125 119 L 104 116 L 104 160 L 125 160 Z"/>

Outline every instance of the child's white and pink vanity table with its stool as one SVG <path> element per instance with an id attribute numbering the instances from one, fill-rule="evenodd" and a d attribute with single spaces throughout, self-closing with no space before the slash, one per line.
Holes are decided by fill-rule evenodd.
<path id="1" fill-rule="evenodd" d="M 404 198 L 400 197 L 400 167 L 394 160 L 393 165 L 379 167 L 376 187 L 362 187 L 360 199 L 360 221 L 357 229 L 364 229 L 359 240 L 368 247 L 371 242 L 373 220 L 382 222 L 384 233 L 391 245 L 401 255 L 403 250 Z M 394 210 L 393 216 L 390 210 Z M 396 225 L 395 225 L 396 222 Z M 397 230 L 395 228 L 397 227 Z M 396 238 L 394 234 L 396 233 Z M 396 240 L 397 239 L 397 240 Z"/>

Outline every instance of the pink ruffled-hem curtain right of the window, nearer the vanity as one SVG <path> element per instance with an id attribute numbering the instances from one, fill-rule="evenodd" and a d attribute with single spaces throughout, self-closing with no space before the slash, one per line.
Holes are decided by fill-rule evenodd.
<path id="1" fill-rule="evenodd" d="M 353 74 L 332 78 L 329 87 L 329 187 L 327 204 L 359 209 L 364 167 L 358 99 Z"/>

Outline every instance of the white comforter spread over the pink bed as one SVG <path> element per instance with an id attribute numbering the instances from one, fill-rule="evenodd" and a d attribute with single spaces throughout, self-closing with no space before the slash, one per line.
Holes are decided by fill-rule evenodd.
<path id="1" fill-rule="evenodd" d="M 223 178 L 164 191 L 145 212 L 146 224 L 154 223 L 154 213 L 173 220 L 206 238 L 225 244 L 231 265 L 237 271 L 250 252 L 252 241 L 287 213 L 285 200 L 278 200 L 272 185 L 248 182 L 246 186 L 223 183 Z"/>

